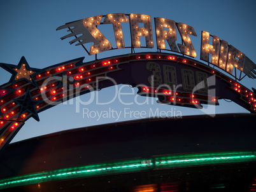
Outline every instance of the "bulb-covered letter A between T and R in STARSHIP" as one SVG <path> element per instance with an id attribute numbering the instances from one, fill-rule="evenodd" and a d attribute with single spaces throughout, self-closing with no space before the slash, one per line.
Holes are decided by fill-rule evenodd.
<path id="1" fill-rule="evenodd" d="M 152 26 L 151 18 L 149 15 L 141 14 L 131 14 L 130 17 L 130 27 L 131 27 L 131 37 L 132 46 L 141 47 L 140 36 L 145 36 L 146 47 L 153 48 L 153 36 L 152 36 Z M 144 27 L 139 27 L 139 23 L 144 24 Z"/>

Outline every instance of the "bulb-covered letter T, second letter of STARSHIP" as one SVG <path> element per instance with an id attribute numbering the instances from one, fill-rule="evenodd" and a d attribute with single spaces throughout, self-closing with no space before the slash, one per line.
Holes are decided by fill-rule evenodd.
<path id="1" fill-rule="evenodd" d="M 124 13 L 108 14 L 104 18 L 103 24 L 113 24 L 113 29 L 115 33 L 115 42 L 118 49 L 125 48 L 124 45 L 124 35 L 122 30 L 122 22 L 129 22 L 129 19 Z"/>

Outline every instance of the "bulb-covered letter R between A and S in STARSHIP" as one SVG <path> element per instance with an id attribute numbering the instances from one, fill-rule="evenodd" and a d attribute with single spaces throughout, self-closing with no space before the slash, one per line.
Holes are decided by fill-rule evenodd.
<path id="1" fill-rule="evenodd" d="M 164 27 L 168 29 L 168 31 L 164 30 Z M 179 52 L 178 47 L 176 45 L 176 22 L 173 20 L 169 20 L 166 18 L 155 18 L 155 33 L 157 34 L 157 48 L 164 50 L 166 49 L 165 39 L 167 40 L 168 45 L 170 46 L 172 51 Z"/>

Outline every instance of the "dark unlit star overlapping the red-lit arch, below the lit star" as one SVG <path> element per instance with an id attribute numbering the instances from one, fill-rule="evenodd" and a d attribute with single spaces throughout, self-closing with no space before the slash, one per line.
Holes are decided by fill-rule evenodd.
<path id="1" fill-rule="evenodd" d="M 29 88 L 27 88 L 25 96 L 23 99 L 13 99 L 15 103 L 20 105 L 20 114 L 25 113 L 26 111 L 29 112 L 32 115 L 32 118 L 34 118 L 36 121 L 39 121 L 39 116 L 36 111 L 36 105 L 43 102 L 43 100 L 33 100 L 31 97 L 31 93 Z"/>

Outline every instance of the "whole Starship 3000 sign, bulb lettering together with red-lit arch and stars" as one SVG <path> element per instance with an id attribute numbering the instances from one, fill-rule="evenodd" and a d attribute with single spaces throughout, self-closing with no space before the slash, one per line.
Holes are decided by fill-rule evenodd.
<path id="1" fill-rule="evenodd" d="M 69 42 L 71 44 L 76 41 L 76 45 L 82 46 L 94 43 L 87 52 L 97 55 L 106 50 L 127 48 L 122 35 L 122 22 L 129 22 L 132 49 L 143 47 L 141 36 L 145 37 L 145 47 L 153 48 L 149 15 L 98 15 L 70 22 L 57 30 L 68 28 L 70 33 L 61 39 L 74 36 L 75 39 Z M 97 28 L 104 24 L 113 25 L 116 48 Z M 181 35 L 181 44 L 176 43 L 177 33 Z M 202 109 L 202 104 L 218 105 L 218 99 L 231 99 L 251 113 L 256 113 L 255 93 L 238 83 L 243 78 L 242 72 L 253 79 L 256 74 L 256 65 L 244 53 L 216 36 L 212 36 L 210 42 L 210 33 L 202 32 L 201 60 L 223 69 L 226 75 L 210 65 L 184 57 L 197 55 L 189 38 L 190 35 L 197 36 L 193 27 L 166 18 L 155 18 L 155 34 L 157 53 L 131 53 L 85 63 L 82 57 L 44 69 L 30 67 L 25 57 L 18 65 L 1 63 L 0 66 L 12 76 L 10 81 L 0 86 L 0 149 L 10 143 L 26 120 L 32 117 L 39 121 L 38 113 L 41 111 L 118 84 L 137 87 L 139 95 L 157 97 L 162 104 Z M 168 50 L 167 46 L 169 50 L 181 54 L 161 53 L 160 50 Z M 236 70 L 240 71 L 239 76 Z"/>

